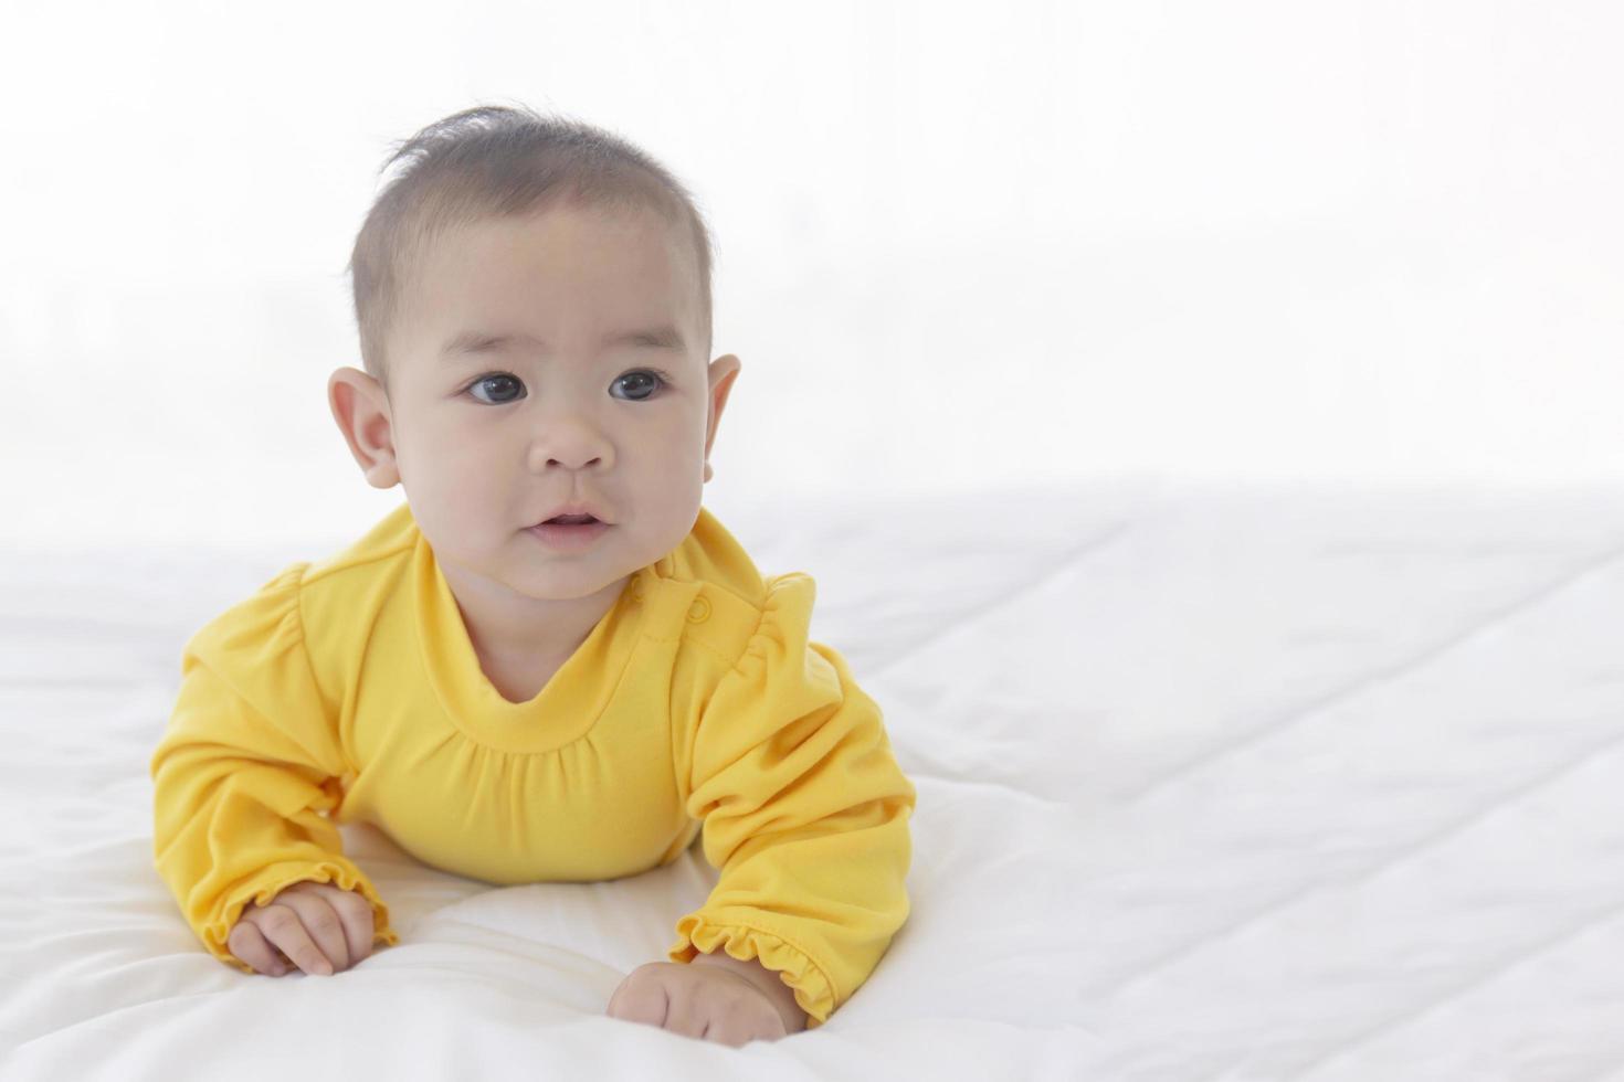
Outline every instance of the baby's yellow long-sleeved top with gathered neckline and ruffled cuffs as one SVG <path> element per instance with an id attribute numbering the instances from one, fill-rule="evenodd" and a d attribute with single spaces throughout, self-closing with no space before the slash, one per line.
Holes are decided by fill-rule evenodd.
<path id="1" fill-rule="evenodd" d="M 721 946 L 791 985 L 809 1027 L 869 978 L 908 918 L 916 790 L 880 707 L 810 642 L 814 581 L 762 577 L 700 509 L 529 702 L 490 685 L 409 505 L 296 563 L 187 641 L 151 759 L 156 868 L 208 951 L 299 881 L 356 889 L 365 821 L 489 882 L 719 871 L 669 960 Z"/>

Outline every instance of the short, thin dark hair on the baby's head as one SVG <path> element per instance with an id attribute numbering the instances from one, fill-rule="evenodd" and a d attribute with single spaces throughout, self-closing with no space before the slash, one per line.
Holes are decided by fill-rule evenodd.
<path id="1" fill-rule="evenodd" d="M 651 208 L 685 222 L 700 282 L 703 359 L 711 347 L 711 238 L 693 196 L 627 140 L 518 105 L 476 105 L 435 120 L 378 169 L 404 159 L 356 235 L 349 274 L 361 362 L 388 391 L 388 329 L 427 245 L 445 229 L 482 217 L 539 213 L 560 201 L 607 209 Z"/>

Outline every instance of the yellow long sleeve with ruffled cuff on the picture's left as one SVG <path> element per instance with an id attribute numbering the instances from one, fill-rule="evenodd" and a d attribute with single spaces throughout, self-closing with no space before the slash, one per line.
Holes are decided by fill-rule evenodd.
<path id="1" fill-rule="evenodd" d="M 349 767 L 305 655 L 304 566 L 192 636 L 151 758 L 158 873 L 209 954 L 245 973 L 253 967 L 226 947 L 239 915 L 307 879 L 359 889 L 374 907 L 374 942 L 398 942 L 388 908 L 322 814 L 338 806 Z"/>

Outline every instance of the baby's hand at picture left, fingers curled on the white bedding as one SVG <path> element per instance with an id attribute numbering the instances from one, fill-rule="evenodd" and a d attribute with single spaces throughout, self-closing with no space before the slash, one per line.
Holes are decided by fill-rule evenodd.
<path id="1" fill-rule="evenodd" d="M 292 964 L 331 977 L 372 954 L 372 902 L 330 882 L 296 882 L 263 907 L 248 902 L 226 946 L 260 973 L 281 977 Z"/>

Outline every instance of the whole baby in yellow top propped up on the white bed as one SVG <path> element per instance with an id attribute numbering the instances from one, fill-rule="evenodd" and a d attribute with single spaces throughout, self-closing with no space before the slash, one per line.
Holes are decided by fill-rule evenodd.
<path id="1" fill-rule="evenodd" d="M 916 792 L 879 706 L 702 503 L 739 375 L 687 191 L 620 138 L 479 107 L 408 140 L 351 260 L 328 406 L 406 503 L 187 641 L 159 874 L 245 973 L 396 944 L 372 822 L 487 882 L 719 871 L 606 1014 L 744 1045 L 828 1020 L 908 917 Z M 385 165 L 385 167 L 387 167 Z"/>

